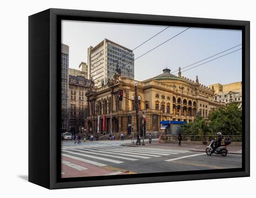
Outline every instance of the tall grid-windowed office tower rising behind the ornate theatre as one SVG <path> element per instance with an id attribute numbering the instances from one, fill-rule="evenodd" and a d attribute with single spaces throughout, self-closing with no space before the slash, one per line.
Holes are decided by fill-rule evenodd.
<path id="1" fill-rule="evenodd" d="M 103 81 L 106 84 L 108 78 L 115 73 L 117 64 L 123 77 L 134 79 L 132 50 L 108 39 L 88 48 L 88 73 L 94 80 L 95 86 L 100 87 Z"/>

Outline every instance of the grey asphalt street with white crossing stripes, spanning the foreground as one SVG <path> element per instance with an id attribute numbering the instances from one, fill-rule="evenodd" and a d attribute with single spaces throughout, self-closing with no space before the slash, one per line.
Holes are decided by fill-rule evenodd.
<path id="1" fill-rule="evenodd" d="M 62 144 L 62 177 L 195 171 L 242 167 L 242 155 L 226 157 L 159 146 L 123 146 L 130 140 Z M 153 141 L 154 142 L 154 141 Z"/>

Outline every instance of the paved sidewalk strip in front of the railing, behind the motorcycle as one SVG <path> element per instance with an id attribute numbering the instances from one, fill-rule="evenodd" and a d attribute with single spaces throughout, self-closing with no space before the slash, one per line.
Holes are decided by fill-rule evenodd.
<path id="1" fill-rule="evenodd" d="M 141 141 L 142 144 L 142 141 Z M 131 144 L 122 144 L 124 146 L 136 146 L 142 147 L 142 145 L 136 145 L 136 143 Z M 205 149 L 208 145 L 191 145 L 186 144 L 186 142 L 182 142 L 182 145 L 179 146 L 178 144 L 174 143 L 159 143 L 158 141 L 152 141 L 151 144 L 148 143 L 148 139 L 145 141 L 145 146 L 143 147 L 154 147 L 154 148 L 165 148 L 165 149 L 179 149 L 179 150 L 186 150 L 192 152 L 205 152 Z M 227 146 L 229 154 L 242 154 L 242 146 Z"/>

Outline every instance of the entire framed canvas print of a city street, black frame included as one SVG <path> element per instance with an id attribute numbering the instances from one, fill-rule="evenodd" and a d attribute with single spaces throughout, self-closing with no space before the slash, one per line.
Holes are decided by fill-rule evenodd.
<path id="1" fill-rule="evenodd" d="M 29 181 L 249 176 L 249 21 L 29 16 Z"/>

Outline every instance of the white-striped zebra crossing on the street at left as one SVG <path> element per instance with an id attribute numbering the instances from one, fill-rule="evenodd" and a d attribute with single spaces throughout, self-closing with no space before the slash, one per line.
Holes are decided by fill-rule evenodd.
<path id="1" fill-rule="evenodd" d="M 74 169 L 74 172 L 88 172 L 94 167 L 104 168 L 140 160 L 161 158 L 161 161 L 180 157 L 189 151 L 175 149 L 160 149 L 148 147 L 122 146 L 120 143 L 96 143 L 88 145 L 62 145 L 62 165 L 66 169 Z M 63 159 L 64 158 L 64 159 Z M 150 162 L 149 162 L 150 163 Z M 116 167 L 116 166 L 115 166 Z M 103 175 L 124 174 L 121 171 L 105 172 Z M 65 175 L 65 170 L 62 170 Z"/>

